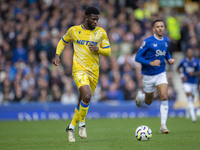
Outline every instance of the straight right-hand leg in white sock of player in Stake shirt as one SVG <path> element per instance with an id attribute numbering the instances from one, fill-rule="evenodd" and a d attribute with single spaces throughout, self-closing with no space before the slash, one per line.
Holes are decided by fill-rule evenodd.
<path id="1" fill-rule="evenodd" d="M 167 97 L 167 84 L 157 85 L 158 95 L 161 100 L 160 104 L 160 116 L 161 116 L 161 127 L 160 132 L 168 134 L 169 130 L 167 129 L 166 122 L 168 117 L 168 97 Z"/>

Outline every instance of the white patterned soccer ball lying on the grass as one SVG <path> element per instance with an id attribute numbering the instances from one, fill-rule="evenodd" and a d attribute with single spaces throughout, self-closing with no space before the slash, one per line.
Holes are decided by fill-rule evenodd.
<path id="1" fill-rule="evenodd" d="M 146 125 L 139 126 L 135 130 L 135 137 L 138 141 L 148 141 L 152 137 L 152 131 Z"/>

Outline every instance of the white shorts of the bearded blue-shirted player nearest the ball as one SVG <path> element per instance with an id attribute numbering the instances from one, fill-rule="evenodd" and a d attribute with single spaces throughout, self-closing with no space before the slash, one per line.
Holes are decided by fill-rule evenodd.
<path id="1" fill-rule="evenodd" d="M 166 72 L 157 75 L 149 76 L 143 75 L 143 90 L 146 93 L 153 93 L 157 85 L 168 84 Z"/>

